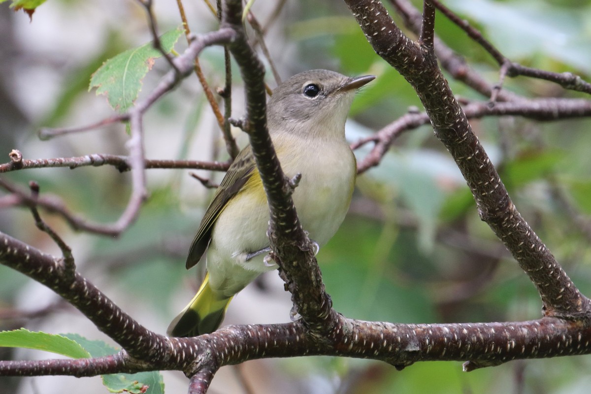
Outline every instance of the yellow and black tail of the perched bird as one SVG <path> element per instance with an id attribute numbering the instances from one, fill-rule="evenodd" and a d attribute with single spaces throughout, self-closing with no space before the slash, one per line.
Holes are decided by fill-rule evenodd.
<path id="1" fill-rule="evenodd" d="M 199 291 L 172 323 L 167 333 L 171 337 L 195 337 L 213 333 L 222 324 L 232 297 L 215 294 L 209 285 L 209 273 Z"/>

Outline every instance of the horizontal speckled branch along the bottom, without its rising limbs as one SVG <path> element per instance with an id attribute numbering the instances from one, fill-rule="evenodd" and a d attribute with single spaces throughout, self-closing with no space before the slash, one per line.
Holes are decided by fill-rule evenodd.
<path id="1" fill-rule="evenodd" d="M 84 360 L 0 361 L 0 376 L 93 376 L 181 369 L 197 376 L 192 382 L 196 390 L 203 390 L 220 366 L 272 357 L 354 357 L 381 360 L 398 369 L 421 361 L 469 360 L 464 369 L 473 370 L 515 359 L 591 353 L 591 328 L 557 318 L 462 324 L 394 324 L 343 318 L 342 323 L 341 330 L 327 337 L 314 335 L 301 323 L 230 325 L 200 337 L 168 338 L 170 357 L 150 363 L 129 359 L 122 352 Z"/>

